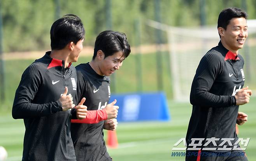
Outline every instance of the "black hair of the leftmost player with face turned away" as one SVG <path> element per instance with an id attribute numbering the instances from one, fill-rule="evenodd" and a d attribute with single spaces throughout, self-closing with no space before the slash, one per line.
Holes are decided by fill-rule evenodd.
<path id="1" fill-rule="evenodd" d="M 77 15 L 68 14 L 58 19 L 51 26 L 51 50 L 61 50 L 74 42 L 84 38 L 85 29 Z"/>

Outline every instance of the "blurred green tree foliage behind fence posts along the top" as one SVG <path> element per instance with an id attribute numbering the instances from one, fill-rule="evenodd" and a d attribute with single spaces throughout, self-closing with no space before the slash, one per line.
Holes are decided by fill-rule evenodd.
<path id="1" fill-rule="evenodd" d="M 154 29 L 144 24 L 160 12 L 161 22 L 172 26 L 199 26 L 200 0 L 112 0 L 112 30 L 126 33 L 135 45 L 134 23 L 140 20 L 141 42 L 155 42 Z M 93 45 L 96 36 L 106 30 L 105 0 L 59 0 L 60 14 L 78 15 L 86 29 L 85 45 Z M 56 20 L 56 0 L 2 0 L 3 46 L 5 52 L 49 50 L 51 24 Z M 219 12 L 226 7 L 244 8 L 249 19 L 256 19 L 256 0 L 205 0 L 206 24 L 216 25 Z"/>

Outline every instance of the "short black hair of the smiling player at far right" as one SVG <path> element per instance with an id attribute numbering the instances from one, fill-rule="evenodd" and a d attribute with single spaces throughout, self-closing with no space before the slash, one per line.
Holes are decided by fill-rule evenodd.
<path id="1" fill-rule="evenodd" d="M 241 9 L 238 9 L 237 7 L 230 7 L 224 9 L 219 14 L 217 28 L 223 27 L 226 30 L 231 19 L 240 17 L 244 17 L 245 19 L 247 19 L 247 16 L 248 15 L 246 12 L 242 11 Z"/>

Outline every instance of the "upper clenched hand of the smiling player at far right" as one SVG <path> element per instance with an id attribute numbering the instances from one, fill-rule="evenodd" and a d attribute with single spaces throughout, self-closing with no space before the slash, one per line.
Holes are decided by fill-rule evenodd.
<path id="1" fill-rule="evenodd" d="M 240 89 L 235 94 L 235 99 L 237 101 L 236 105 L 243 105 L 243 104 L 249 103 L 251 95 L 252 95 L 252 90 L 250 90 L 248 86 L 243 89 Z"/>

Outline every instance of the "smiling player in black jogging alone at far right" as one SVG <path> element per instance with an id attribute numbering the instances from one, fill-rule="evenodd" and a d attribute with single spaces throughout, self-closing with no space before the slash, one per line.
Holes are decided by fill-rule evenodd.
<path id="1" fill-rule="evenodd" d="M 247 161 L 242 151 L 232 151 L 238 140 L 236 122 L 247 120 L 247 115 L 238 113 L 239 105 L 249 103 L 252 94 L 248 87 L 243 88 L 244 59 L 238 54 L 248 36 L 246 19 L 247 14 L 235 7 L 219 14 L 219 44 L 203 56 L 191 86 L 193 110 L 186 135 L 186 161 Z M 230 138 L 231 145 L 221 145 L 225 138 Z"/>

